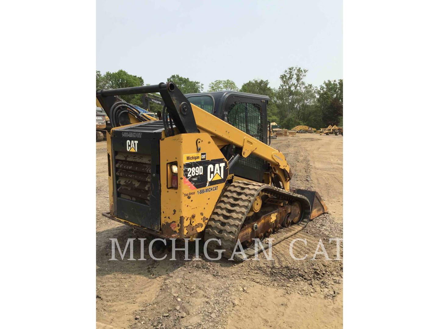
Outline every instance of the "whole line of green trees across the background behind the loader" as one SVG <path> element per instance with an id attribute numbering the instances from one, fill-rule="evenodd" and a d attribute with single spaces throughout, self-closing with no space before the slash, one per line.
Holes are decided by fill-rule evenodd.
<path id="1" fill-rule="evenodd" d="M 305 82 L 308 70 L 300 67 L 287 68 L 281 75 L 279 88 L 269 86 L 268 80 L 253 79 L 245 82 L 241 88 L 232 80 L 215 80 L 209 83 L 208 92 L 235 90 L 270 97 L 267 118 L 284 129 L 296 125 L 307 125 L 316 129 L 328 125 L 343 125 L 343 80 L 327 80 L 319 87 Z M 167 81 L 174 82 L 182 93 L 201 93 L 203 84 L 171 75 Z M 144 80 L 123 70 L 101 74 L 96 71 L 96 89 L 113 89 L 144 86 Z M 142 105 L 140 95 L 127 95 L 124 100 L 131 104 Z M 155 108 L 157 107 L 157 108 Z M 156 104 L 151 104 L 151 111 L 158 111 Z"/>

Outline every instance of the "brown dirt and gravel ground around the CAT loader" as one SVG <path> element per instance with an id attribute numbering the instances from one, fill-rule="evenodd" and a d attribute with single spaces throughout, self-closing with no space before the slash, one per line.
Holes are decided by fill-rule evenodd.
<path id="1" fill-rule="evenodd" d="M 110 238 L 123 249 L 128 238 L 151 237 L 104 218 L 108 211 L 106 142 L 96 143 L 96 320 L 97 328 L 342 328 L 343 261 L 336 243 L 343 236 L 343 136 L 297 134 L 272 146 L 285 154 L 294 173 L 292 186 L 317 190 L 328 213 L 273 246 L 273 260 L 118 261 Z M 292 240 L 295 257 L 289 253 Z M 322 240 L 331 260 L 313 254 Z M 135 240 L 134 258 L 140 258 Z M 200 245 L 200 250 L 202 245 Z M 191 247 L 191 255 L 194 255 Z M 320 248 L 319 251 L 322 251 Z M 169 250 L 155 250 L 155 257 Z M 340 257 L 343 248 L 341 242 Z"/>

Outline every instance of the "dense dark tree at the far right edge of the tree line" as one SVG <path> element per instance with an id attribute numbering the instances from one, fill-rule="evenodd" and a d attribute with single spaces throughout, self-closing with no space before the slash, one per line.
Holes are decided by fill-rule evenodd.
<path id="1" fill-rule="evenodd" d="M 322 121 L 327 125 L 343 123 L 343 80 L 327 80 L 318 90 L 317 104 L 320 107 Z"/>

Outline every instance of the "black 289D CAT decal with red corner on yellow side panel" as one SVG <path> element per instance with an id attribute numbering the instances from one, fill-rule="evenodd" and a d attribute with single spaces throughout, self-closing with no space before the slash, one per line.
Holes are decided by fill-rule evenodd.
<path id="1" fill-rule="evenodd" d="M 223 183 L 229 175 L 229 167 L 224 159 L 187 162 L 184 168 L 184 183 L 191 190 Z"/>

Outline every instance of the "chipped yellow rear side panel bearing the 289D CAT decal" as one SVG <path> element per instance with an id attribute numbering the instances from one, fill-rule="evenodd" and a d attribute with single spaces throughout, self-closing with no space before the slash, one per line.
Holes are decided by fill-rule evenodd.
<path id="1" fill-rule="evenodd" d="M 227 180 L 227 160 L 206 133 L 169 136 L 160 150 L 160 172 L 166 173 L 160 182 L 161 231 L 180 238 L 200 233 Z M 172 164 L 178 168 L 177 188 L 169 182 Z"/>

